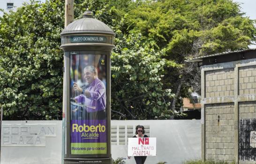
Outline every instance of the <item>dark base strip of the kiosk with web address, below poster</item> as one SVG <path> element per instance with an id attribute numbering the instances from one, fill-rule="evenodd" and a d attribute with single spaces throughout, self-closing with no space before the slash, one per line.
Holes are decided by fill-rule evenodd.
<path id="1" fill-rule="evenodd" d="M 64 164 L 112 164 L 112 157 L 107 157 L 107 158 L 64 158 Z"/>

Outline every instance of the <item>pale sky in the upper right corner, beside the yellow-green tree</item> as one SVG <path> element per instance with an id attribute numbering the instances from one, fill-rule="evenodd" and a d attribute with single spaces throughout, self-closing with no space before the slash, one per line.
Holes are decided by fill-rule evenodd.
<path id="1" fill-rule="evenodd" d="M 233 2 L 240 2 L 241 11 L 245 12 L 245 16 L 256 19 L 256 0 L 233 0 Z M 249 48 L 256 48 L 256 45 L 250 45 Z"/>

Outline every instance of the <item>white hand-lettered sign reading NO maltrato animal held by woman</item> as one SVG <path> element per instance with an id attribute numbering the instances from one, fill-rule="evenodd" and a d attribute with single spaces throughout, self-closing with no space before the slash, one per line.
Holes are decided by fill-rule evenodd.
<path id="1" fill-rule="evenodd" d="M 156 156 L 157 138 L 128 138 L 128 156 Z"/>

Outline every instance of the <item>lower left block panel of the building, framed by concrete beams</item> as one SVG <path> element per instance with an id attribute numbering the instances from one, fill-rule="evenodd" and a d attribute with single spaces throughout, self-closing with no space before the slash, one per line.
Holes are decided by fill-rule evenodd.
<path id="1" fill-rule="evenodd" d="M 207 160 L 234 159 L 234 105 L 205 105 L 205 149 Z"/>

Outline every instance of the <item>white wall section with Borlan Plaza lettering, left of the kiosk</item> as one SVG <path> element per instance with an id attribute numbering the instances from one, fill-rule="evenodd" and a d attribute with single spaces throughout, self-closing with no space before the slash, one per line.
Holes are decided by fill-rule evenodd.
<path id="1" fill-rule="evenodd" d="M 16 128 L 12 130 L 8 127 Z M 56 135 L 50 132 L 51 136 L 47 136 L 47 128 L 41 127 L 56 127 L 53 132 Z M 2 121 L 0 164 L 61 164 L 61 128 L 62 121 Z M 8 136 L 13 137 L 12 141 L 7 142 Z M 19 143 L 20 136 L 23 136 L 23 141 Z M 40 142 L 36 142 L 36 136 Z M 33 144 L 29 146 L 30 143 Z"/>

